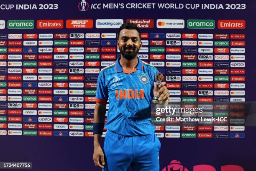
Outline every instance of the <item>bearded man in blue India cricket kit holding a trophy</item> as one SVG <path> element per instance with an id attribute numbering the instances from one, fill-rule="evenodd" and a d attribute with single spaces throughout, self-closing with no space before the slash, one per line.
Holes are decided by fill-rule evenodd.
<path id="1" fill-rule="evenodd" d="M 156 95 L 158 70 L 137 57 L 142 47 L 141 33 L 133 23 L 119 28 L 117 47 L 121 57 L 100 71 L 94 111 L 95 166 L 102 171 L 159 171 L 161 143 L 151 122 L 151 98 Z M 159 86 L 159 100 L 166 101 L 169 91 L 165 82 Z M 104 153 L 100 137 L 104 128 L 109 100 L 108 129 Z"/>

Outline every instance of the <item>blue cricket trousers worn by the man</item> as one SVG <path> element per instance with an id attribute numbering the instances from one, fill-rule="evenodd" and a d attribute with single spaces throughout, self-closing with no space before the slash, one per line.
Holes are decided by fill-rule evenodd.
<path id="1" fill-rule="evenodd" d="M 107 131 L 104 141 L 105 166 L 102 171 L 159 171 L 161 143 L 152 133 L 122 136 Z"/>

